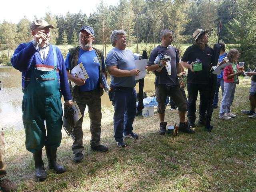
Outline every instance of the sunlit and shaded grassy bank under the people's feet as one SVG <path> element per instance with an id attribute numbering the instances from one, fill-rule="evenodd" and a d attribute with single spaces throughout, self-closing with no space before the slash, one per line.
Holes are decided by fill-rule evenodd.
<path id="1" fill-rule="evenodd" d="M 24 147 L 24 131 L 6 132 L 8 179 L 19 184 L 19 192 L 255 192 L 256 120 L 240 113 L 248 108 L 250 80 L 237 86 L 230 121 L 218 119 L 214 110 L 211 133 L 196 127 L 196 134 L 158 135 L 156 110 L 150 118 L 136 117 L 138 140 L 126 139 L 126 148 L 117 148 L 113 138 L 113 109 L 103 108 L 102 144 L 109 152 L 90 151 L 88 116 L 84 118 L 84 160 L 72 162 L 72 139 L 63 132 L 58 161 L 67 172 L 36 182 L 32 154 Z M 197 103 L 198 106 L 198 103 Z M 198 116 L 198 112 L 197 112 Z M 166 109 L 168 124 L 178 122 L 177 111 Z M 45 152 L 44 162 L 47 167 Z"/>

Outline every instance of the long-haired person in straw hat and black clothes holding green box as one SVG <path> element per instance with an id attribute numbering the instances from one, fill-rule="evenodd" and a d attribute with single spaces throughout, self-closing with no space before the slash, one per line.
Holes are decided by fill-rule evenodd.
<path id="1" fill-rule="evenodd" d="M 208 46 L 209 30 L 197 29 L 193 33 L 194 44 L 189 46 L 181 59 L 181 64 L 188 68 L 188 126 L 194 127 L 196 120 L 196 100 L 200 95 L 199 121 L 206 122 L 208 104 L 208 76 L 213 62 L 213 49 Z"/>

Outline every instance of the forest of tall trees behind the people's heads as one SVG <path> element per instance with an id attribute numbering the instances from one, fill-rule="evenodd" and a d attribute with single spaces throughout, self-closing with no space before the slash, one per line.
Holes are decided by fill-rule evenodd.
<path id="1" fill-rule="evenodd" d="M 160 31 L 170 29 L 174 46 L 183 53 L 184 44 L 193 43 L 192 33 L 198 28 L 211 30 L 209 44 L 215 44 L 222 20 L 220 40 L 228 44 L 228 49 L 240 51 L 240 60 L 246 62 L 246 68 L 254 69 L 256 65 L 255 0 L 120 0 L 116 6 L 108 6 L 102 0 L 89 16 L 82 11 L 66 15 L 46 12 L 43 19 L 56 26 L 51 30 L 51 43 L 63 45 L 64 57 L 68 44 L 78 45 L 79 29 L 84 25 L 94 28 L 94 43 L 101 44 L 106 56 L 114 29 L 126 31 L 127 47 L 133 52 L 141 53 L 147 41 L 148 54 L 159 44 Z M 17 45 L 31 40 L 31 22 L 24 16 L 18 24 L 5 20 L 0 23 L 0 64 L 10 64 Z"/>

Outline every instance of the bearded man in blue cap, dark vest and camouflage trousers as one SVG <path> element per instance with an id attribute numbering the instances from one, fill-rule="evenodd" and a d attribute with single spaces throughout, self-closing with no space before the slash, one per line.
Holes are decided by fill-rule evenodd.
<path id="1" fill-rule="evenodd" d="M 90 117 L 90 131 L 91 131 L 91 150 L 98 152 L 108 151 L 108 147 L 100 144 L 101 132 L 101 100 L 103 89 L 101 84 L 102 75 L 106 74 L 103 52 L 92 47 L 94 42 L 94 30 L 90 26 L 83 26 L 79 31 L 80 46 L 69 49 L 65 64 L 67 72 L 72 70 L 76 65 L 82 63 L 89 78 L 84 80 L 82 78 L 74 77 L 68 72 L 68 80 L 74 82 L 76 86 L 71 88 L 73 100 L 76 101 L 82 118 L 76 122 L 73 134 L 75 141 L 72 145 L 74 153 L 74 162 L 80 162 L 83 158 L 83 130 L 82 123 L 84 118 L 84 111 L 86 105 L 88 106 L 88 113 Z"/>

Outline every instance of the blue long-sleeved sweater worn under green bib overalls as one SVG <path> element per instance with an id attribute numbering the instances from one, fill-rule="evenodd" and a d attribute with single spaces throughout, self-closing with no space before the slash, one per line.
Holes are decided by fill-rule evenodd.
<path id="1" fill-rule="evenodd" d="M 72 96 L 68 85 L 68 78 L 66 73 L 66 67 L 62 54 L 58 48 L 57 50 L 57 78 L 60 84 L 60 90 L 64 96 L 64 100 L 71 100 Z M 42 68 L 54 68 L 54 57 L 52 52 L 52 45 L 45 60 L 42 60 L 39 52 L 35 49 L 32 42 L 22 43 L 14 51 L 11 58 L 12 66 L 22 72 L 22 90 L 24 90 L 30 82 L 31 67 L 41 69 Z"/>

